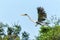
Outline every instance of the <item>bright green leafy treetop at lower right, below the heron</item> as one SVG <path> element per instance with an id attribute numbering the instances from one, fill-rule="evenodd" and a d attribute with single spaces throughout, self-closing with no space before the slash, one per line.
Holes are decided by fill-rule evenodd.
<path id="1" fill-rule="evenodd" d="M 37 40 L 60 40 L 60 25 L 41 26 Z"/>

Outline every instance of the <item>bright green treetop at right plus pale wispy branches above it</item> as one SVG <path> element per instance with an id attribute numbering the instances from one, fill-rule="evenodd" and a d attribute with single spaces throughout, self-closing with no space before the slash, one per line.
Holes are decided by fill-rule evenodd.
<path id="1" fill-rule="evenodd" d="M 48 21 L 49 22 L 49 21 Z M 51 26 L 51 24 L 54 24 Z M 40 27 L 36 40 L 60 40 L 60 19 L 52 17 L 50 25 Z"/>

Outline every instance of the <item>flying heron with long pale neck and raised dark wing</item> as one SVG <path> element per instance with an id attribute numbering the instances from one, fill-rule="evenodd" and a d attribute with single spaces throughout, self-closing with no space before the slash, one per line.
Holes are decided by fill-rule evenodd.
<path id="1" fill-rule="evenodd" d="M 43 7 L 38 7 L 37 8 L 37 13 L 38 13 L 38 20 L 35 21 L 35 20 L 32 20 L 32 18 L 28 15 L 28 14 L 22 14 L 22 16 L 27 16 L 32 22 L 36 23 L 36 24 L 39 24 L 39 25 L 43 25 L 43 21 L 46 20 L 47 18 L 47 14 L 45 13 L 44 11 L 44 8 Z"/>

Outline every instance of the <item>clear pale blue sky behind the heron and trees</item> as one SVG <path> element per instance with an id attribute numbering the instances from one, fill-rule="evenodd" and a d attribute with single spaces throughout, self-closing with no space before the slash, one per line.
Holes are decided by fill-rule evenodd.
<path id="1" fill-rule="evenodd" d="M 60 0 L 0 0 L 0 22 L 12 25 L 18 23 L 22 31 L 30 33 L 30 38 L 38 35 L 39 26 L 35 27 L 27 17 L 20 14 L 27 13 L 37 20 L 37 7 L 42 6 L 48 15 L 60 16 Z"/>

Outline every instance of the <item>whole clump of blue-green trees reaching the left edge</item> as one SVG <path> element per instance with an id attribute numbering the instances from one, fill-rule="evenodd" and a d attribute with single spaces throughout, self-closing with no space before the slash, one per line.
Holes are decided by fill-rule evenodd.
<path id="1" fill-rule="evenodd" d="M 4 28 L 7 28 L 7 35 L 4 33 Z M 18 34 L 21 31 L 20 25 L 10 27 L 8 24 L 0 23 L 0 40 L 20 40 Z M 2 37 L 3 36 L 3 37 Z"/>

